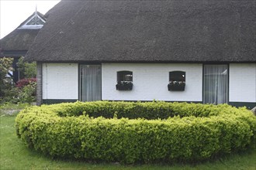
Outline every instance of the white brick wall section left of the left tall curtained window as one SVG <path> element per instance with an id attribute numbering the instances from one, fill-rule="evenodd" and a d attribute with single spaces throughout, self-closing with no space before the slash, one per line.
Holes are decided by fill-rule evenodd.
<path id="1" fill-rule="evenodd" d="M 43 99 L 78 100 L 78 63 L 43 63 Z"/>

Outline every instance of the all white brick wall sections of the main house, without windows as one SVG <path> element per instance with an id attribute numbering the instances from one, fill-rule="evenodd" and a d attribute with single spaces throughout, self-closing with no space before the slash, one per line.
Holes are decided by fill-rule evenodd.
<path id="1" fill-rule="evenodd" d="M 133 71 L 133 90 L 116 90 L 116 73 Z M 185 71 L 185 91 L 168 91 L 170 71 Z M 230 102 L 256 102 L 256 63 L 231 63 Z M 78 63 L 43 63 L 43 99 L 78 100 Z M 202 64 L 102 63 L 102 100 L 202 101 Z"/>

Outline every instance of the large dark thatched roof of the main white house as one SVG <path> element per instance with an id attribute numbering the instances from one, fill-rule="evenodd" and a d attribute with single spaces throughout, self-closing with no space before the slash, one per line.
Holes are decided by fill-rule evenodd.
<path id="1" fill-rule="evenodd" d="M 61 1 L 47 15 L 29 60 L 256 62 L 254 0 Z"/>

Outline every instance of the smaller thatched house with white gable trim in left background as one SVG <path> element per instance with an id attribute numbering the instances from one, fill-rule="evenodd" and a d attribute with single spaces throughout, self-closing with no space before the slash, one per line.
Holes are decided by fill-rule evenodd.
<path id="1" fill-rule="evenodd" d="M 24 22 L 22 22 L 9 35 L 0 40 L 0 57 L 12 57 L 13 72 L 9 73 L 13 81 L 17 82 L 22 75 L 16 65 L 21 56 L 25 56 L 29 46 L 43 27 L 46 18 L 40 12 L 33 12 Z"/>

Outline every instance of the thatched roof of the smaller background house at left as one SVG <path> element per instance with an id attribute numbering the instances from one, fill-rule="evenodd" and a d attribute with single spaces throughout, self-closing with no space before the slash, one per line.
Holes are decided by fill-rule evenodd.
<path id="1" fill-rule="evenodd" d="M 45 20 L 43 14 L 40 12 L 36 12 L 36 14 Z M 22 26 L 28 22 L 33 15 L 35 15 L 35 12 L 30 15 L 28 19 L 22 22 L 15 30 L 9 33 L 9 35 L 0 40 L 0 49 L 2 51 L 27 51 L 29 49 L 29 46 L 31 46 L 40 29 L 23 29 Z"/>

